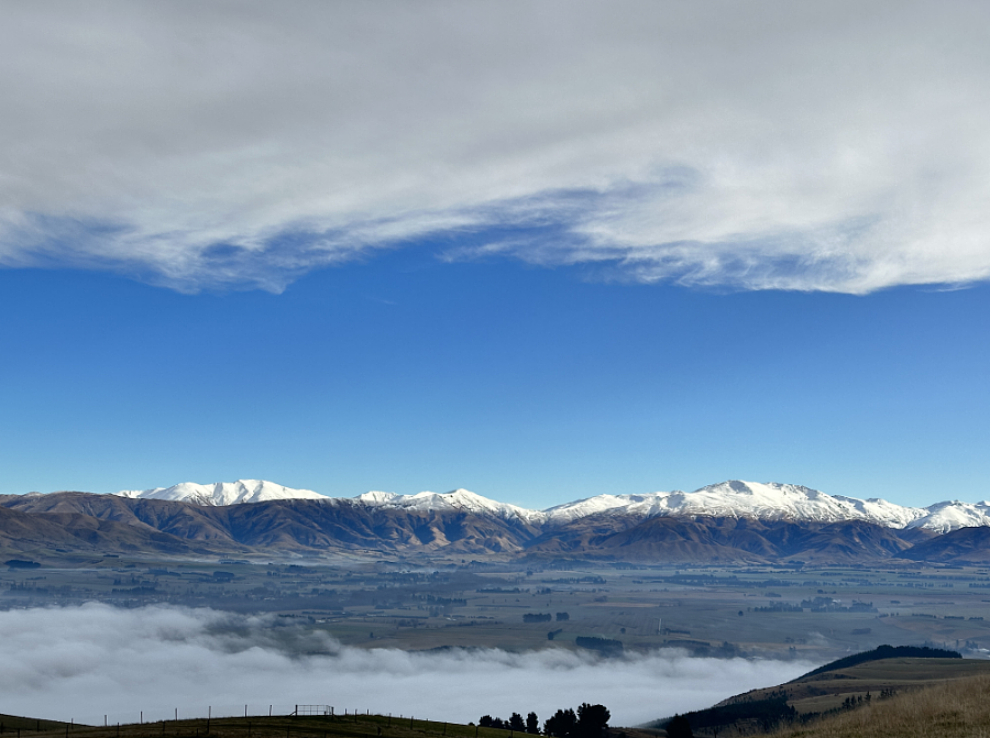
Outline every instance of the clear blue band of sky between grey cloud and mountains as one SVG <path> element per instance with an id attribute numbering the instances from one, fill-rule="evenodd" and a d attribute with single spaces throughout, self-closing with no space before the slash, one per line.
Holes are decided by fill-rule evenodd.
<path id="1" fill-rule="evenodd" d="M 0 272 L 3 492 L 253 477 L 542 507 L 748 478 L 986 496 L 986 286 L 715 293 L 435 249 L 280 295 Z"/>

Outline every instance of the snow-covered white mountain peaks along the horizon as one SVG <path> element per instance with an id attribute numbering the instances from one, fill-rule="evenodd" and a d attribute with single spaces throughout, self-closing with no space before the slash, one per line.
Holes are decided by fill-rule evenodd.
<path id="1" fill-rule="evenodd" d="M 857 499 L 827 495 L 793 484 L 729 481 L 694 492 L 654 492 L 641 495 L 597 495 L 546 510 L 499 503 L 468 489 L 400 495 L 366 492 L 356 497 L 327 497 L 310 489 L 293 489 L 272 482 L 239 480 L 230 483 L 194 484 L 123 491 L 122 497 L 170 499 L 198 505 L 237 505 L 276 499 L 318 499 L 358 504 L 371 508 L 416 511 L 466 511 L 531 526 L 563 525 L 590 516 L 638 518 L 713 516 L 758 520 L 839 522 L 864 520 L 887 528 L 923 528 L 946 533 L 958 528 L 990 527 L 990 502 L 946 500 L 928 507 L 905 507 L 884 499 Z"/>

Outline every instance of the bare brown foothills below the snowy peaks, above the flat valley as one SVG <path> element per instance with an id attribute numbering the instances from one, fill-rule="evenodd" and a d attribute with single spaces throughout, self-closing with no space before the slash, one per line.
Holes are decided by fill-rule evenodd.
<path id="1" fill-rule="evenodd" d="M 913 564 L 925 546 L 942 563 L 986 560 L 990 528 L 937 535 L 864 520 L 754 520 L 745 517 L 590 515 L 535 525 L 464 509 L 410 509 L 355 499 L 276 499 L 208 506 L 91 493 L 0 497 L 0 549 L 145 551 L 257 555 L 457 557 L 517 561 L 726 564 Z M 10 515 L 13 513 L 13 515 Z M 971 537 L 971 531 L 988 536 Z"/>

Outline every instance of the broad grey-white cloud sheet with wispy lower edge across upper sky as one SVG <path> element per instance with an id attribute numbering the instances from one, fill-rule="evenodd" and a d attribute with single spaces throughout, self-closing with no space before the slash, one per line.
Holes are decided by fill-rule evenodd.
<path id="1" fill-rule="evenodd" d="M 638 282 L 987 279 L 988 14 L 24 3 L 0 29 L 0 264 L 277 291 L 440 234 L 446 260 Z"/>

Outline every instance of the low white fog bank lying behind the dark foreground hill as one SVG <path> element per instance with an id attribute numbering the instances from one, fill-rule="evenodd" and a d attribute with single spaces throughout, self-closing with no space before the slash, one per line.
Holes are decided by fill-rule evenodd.
<path id="1" fill-rule="evenodd" d="M 285 620 L 283 619 L 282 623 Z M 676 651 L 600 660 L 548 648 L 407 652 L 341 647 L 277 617 L 212 609 L 90 604 L 0 612 L 0 713 L 133 723 L 285 714 L 295 704 L 338 712 L 476 720 L 602 703 L 613 725 L 707 707 L 813 669 L 796 661 L 695 659 Z M 304 652 L 307 656 L 294 656 Z"/>

